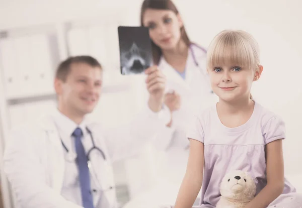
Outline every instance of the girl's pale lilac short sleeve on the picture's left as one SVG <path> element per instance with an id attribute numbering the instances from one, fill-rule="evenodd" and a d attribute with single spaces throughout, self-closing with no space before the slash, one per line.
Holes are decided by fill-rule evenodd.
<path id="1" fill-rule="evenodd" d="M 187 139 L 194 139 L 201 143 L 204 142 L 204 131 L 202 117 L 196 116 L 188 128 Z"/>

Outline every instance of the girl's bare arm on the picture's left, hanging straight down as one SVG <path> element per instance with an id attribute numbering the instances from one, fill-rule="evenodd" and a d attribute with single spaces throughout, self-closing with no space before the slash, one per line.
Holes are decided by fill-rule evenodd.
<path id="1" fill-rule="evenodd" d="M 190 139 L 187 170 L 178 192 L 175 208 L 191 208 L 194 204 L 203 178 L 203 148 L 203 143 Z"/>

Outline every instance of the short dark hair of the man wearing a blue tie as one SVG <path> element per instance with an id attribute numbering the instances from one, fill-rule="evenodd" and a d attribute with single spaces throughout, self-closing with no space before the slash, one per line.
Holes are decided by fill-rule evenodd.
<path id="1" fill-rule="evenodd" d="M 92 56 L 71 56 L 59 64 L 56 69 L 55 77 L 61 79 L 62 81 L 66 81 L 70 71 L 70 66 L 74 63 L 86 63 L 92 67 L 99 67 L 102 69 L 102 66 L 98 60 Z"/>

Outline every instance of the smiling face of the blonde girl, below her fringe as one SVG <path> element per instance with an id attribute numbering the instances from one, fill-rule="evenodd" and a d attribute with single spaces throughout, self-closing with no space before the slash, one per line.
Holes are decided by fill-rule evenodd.
<path id="1" fill-rule="evenodd" d="M 214 66 L 208 69 L 211 87 L 219 99 L 235 101 L 249 98 L 253 81 L 259 79 L 263 67 L 258 70 L 237 65 Z"/>

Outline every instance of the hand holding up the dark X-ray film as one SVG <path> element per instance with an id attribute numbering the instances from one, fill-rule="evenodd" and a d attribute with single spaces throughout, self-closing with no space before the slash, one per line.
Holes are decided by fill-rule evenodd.
<path id="1" fill-rule="evenodd" d="M 149 67 L 145 70 L 146 86 L 149 92 L 149 108 L 154 112 L 162 109 L 166 88 L 166 77 L 157 66 Z"/>

